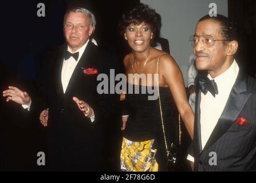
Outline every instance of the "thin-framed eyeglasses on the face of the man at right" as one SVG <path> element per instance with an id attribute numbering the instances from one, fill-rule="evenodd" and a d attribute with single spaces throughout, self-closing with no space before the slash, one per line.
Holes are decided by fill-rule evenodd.
<path id="1" fill-rule="evenodd" d="M 207 47 L 212 47 L 214 45 L 214 41 L 231 41 L 229 39 L 214 39 L 211 35 L 191 35 L 190 37 L 190 45 L 192 47 L 196 46 L 199 43 L 199 40 Z"/>

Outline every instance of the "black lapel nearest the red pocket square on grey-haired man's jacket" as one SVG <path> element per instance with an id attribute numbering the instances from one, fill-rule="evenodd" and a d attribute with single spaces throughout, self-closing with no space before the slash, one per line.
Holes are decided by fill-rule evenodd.
<path id="1" fill-rule="evenodd" d="M 75 79 L 77 79 L 77 77 L 83 77 L 84 73 L 83 73 L 83 69 L 82 68 L 86 68 L 87 65 L 89 65 L 92 61 L 93 61 L 93 46 L 92 42 L 88 42 L 88 45 L 86 46 L 84 53 L 82 54 L 82 57 L 80 58 L 80 61 L 77 63 L 76 68 L 73 71 L 73 74 L 69 80 L 69 84 L 68 87 L 66 88 L 66 93 L 70 92 L 71 89 L 74 89 L 76 87 L 72 86 L 72 83 L 74 83 Z"/>

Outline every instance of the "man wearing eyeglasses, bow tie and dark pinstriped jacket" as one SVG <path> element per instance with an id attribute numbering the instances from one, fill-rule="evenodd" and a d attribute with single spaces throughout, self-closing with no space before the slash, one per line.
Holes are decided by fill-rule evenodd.
<path id="1" fill-rule="evenodd" d="M 195 126 L 187 159 L 195 171 L 256 170 L 256 81 L 235 61 L 238 33 L 223 15 L 204 16 L 190 42 L 196 77 Z"/>

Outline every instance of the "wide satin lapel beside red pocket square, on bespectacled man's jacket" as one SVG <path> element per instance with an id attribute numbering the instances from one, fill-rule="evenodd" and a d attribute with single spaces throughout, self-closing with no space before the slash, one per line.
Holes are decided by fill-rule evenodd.
<path id="1" fill-rule="evenodd" d="M 247 92 L 247 77 L 239 73 L 227 104 L 203 150 L 214 144 L 234 124 L 250 96 L 251 93 Z"/>

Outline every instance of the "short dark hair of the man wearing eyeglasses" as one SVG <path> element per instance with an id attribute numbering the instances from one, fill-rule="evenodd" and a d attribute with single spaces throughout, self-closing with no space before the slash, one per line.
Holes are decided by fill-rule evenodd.
<path id="1" fill-rule="evenodd" d="M 205 15 L 200 18 L 198 22 L 202 22 L 204 20 L 211 19 L 212 21 L 218 22 L 220 24 L 220 31 L 223 38 L 230 41 L 238 41 L 238 27 L 235 22 L 233 22 L 230 18 L 227 18 L 223 15 L 217 14 L 216 17 L 210 17 L 210 15 Z"/>

